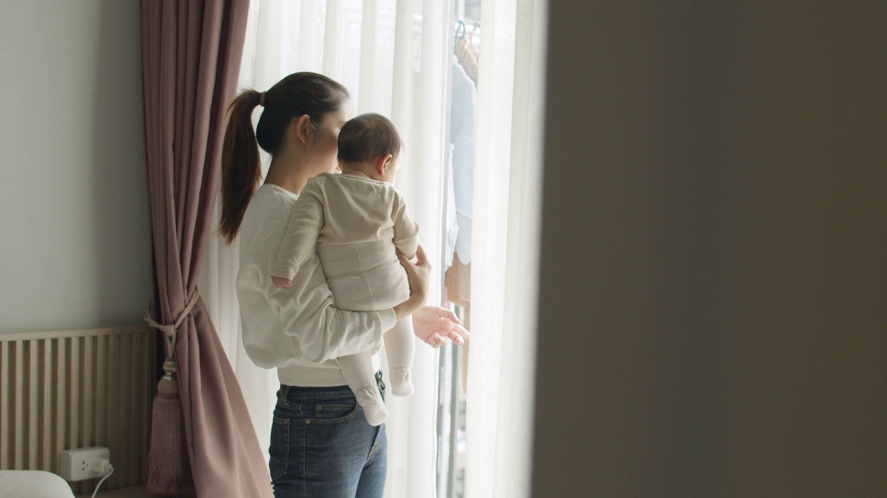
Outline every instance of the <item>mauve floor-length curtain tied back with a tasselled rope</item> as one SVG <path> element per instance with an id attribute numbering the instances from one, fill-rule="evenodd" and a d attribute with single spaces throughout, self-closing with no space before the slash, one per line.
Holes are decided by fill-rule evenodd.
<path id="1" fill-rule="evenodd" d="M 176 323 L 197 292 L 248 8 L 248 0 L 142 1 L 157 323 Z M 199 297 L 178 327 L 175 348 L 187 447 L 181 459 L 191 463 L 194 490 L 200 496 L 271 496 L 246 403 Z"/>

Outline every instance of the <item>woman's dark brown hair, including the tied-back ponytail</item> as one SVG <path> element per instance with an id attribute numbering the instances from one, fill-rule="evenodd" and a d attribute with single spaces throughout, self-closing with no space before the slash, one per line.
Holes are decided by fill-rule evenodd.
<path id="1" fill-rule="evenodd" d="M 348 90 L 323 74 L 294 73 L 264 92 L 264 110 L 253 131 L 252 115 L 263 95 L 246 89 L 228 108 L 228 128 L 222 146 L 222 221 L 219 231 L 231 244 L 240 230 L 249 199 L 262 180 L 259 149 L 272 156 L 280 150 L 289 123 L 304 114 L 320 131 L 326 114 L 339 110 Z"/>

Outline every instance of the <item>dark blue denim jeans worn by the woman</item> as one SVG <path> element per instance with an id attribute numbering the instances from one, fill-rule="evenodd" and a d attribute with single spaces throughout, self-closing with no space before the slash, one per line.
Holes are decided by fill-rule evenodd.
<path id="1" fill-rule="evenodd" d="M 381 371 L 376 384 L 384 398 Z M 270 454 L 277 498 L 381 498 L 385 489 L 385 424 L 367 424 L 348 385 L 282 385 Z"/>

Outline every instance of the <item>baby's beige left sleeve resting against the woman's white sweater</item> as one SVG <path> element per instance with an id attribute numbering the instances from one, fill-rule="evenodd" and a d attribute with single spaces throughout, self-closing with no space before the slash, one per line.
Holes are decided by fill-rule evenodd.
<path id="1" fill-rule="evenodd" d="M 293 279 L 299 266 L 314 253 L 320 227 L 324 224 L 322 192 L 309 181 L 289 214 L 287 235 L 280 244 L 277 261 L 271 265 L 271 276 Z"/>

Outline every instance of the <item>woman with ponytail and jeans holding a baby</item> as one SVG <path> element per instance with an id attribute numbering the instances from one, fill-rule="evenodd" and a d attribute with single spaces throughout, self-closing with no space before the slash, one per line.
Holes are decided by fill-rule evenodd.
<path id="1" fill-rule="evenodd" d="M 253 131 L 256 105 L 264 110 Z M 458 337 L 459 321 L 443 307 L 422 307 L 430 265 L 421 247 L 412 263 L 399 255 L 410 298 L 379 312 L 334 307 L 317 254 L 292 286 L 279 289 L 269 269 L 287 230 L 290 208 L 313 175 L 333 172 L 339 129 L 353 115 L 348 90 L 326 76 L 290 74 L 271 89 L 242 92 L 224 137 L 222 222 L 230 244 L 240 236 L 237 293 L 243 345 L 263 368 L 277 368 L 278 404 L 271 429 L 271 484 L 276 496 L 381 496 L 385 426 L 367 424 L 336 358 L 378 350 L 384 331 L 412 314 L 415 333 L 432 346 Z M 256 142 L 271 153 L 261 187 Z M 382 393 L 381 372 L 376 374 Z"/>

